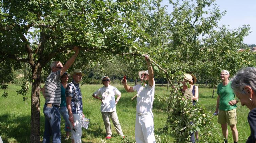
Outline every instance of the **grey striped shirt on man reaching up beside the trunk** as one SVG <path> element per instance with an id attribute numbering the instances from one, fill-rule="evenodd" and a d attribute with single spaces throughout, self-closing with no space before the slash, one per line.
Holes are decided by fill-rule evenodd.
<path id="1" fill-rule="evenodd" d="M 45 103 L 60 105 L 60 70 L 52 72 L 45 81 Z"/>

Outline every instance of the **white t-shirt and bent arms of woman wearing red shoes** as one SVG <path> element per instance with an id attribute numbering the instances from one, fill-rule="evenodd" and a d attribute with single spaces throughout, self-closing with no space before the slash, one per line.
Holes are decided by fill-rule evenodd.
<path id="1" fill-rule="evenodd" d="M 102 97 L 101 112 L 113 112 L 115 111 L 115 95 L 120 96 L 121 92 L 116 87 L 108 85 L 108 87 L 101 87 L 93 94 Z"/>

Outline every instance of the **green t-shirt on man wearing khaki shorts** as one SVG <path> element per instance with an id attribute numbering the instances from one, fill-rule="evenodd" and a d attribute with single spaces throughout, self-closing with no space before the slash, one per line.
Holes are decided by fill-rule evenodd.
<path id="1" fill-rule="evenodd" d="M 217 94 L 220 96 L 219 110 L 229 111 L 236 108 L 236 104 L 233 106 L 228 105 L 228 102 L 235 99 L 235 94 L 231 88 L 231 81 L 226 86 L 220 83 L 217 88 Z"/>

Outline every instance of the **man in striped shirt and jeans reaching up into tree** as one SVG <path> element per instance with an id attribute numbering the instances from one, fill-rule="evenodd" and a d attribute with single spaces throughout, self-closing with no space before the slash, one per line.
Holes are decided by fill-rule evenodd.
<path id="1" fill-rule="evenodd" d="M 45 126 L 43 133 L 43 143 L 50 143 L 50 137 L 53 137 L 53 143 L 61 142 L 60 133 L 60 114 L 59 105 L 60 95 L 60 77 L 68 70 L 75 61 L 79 49 L 74 47 L 75 54 L 63 66 L 60 61 L 51 64 L 51 74 L 47 77 L 42 93 L 45 98 L 43 114 L 45 116 Z"/>

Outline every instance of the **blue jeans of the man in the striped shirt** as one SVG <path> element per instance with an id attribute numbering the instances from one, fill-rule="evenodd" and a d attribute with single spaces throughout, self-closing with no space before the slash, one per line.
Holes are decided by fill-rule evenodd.
<path id="1" fill-rule="evenodd" d="M 52 136 L 53 143 L 61 142 L 60 133 L 60 114 L 59 108 L 43 106 L 43 114 L 45 117 L 43 143 L 50 143 L 50 137 Z"/>

